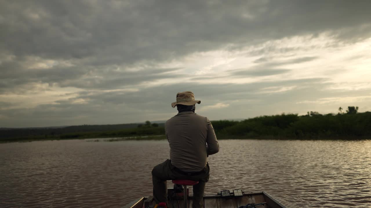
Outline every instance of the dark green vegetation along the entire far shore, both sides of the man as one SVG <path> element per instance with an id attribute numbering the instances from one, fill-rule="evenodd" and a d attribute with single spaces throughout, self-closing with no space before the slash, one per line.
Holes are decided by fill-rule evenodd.
<path id="1" fill-rule="evenodd" d="M 362 140 L 371 139 L 371 112 L 306 115 L 280 114 L 242 121 L 211 121 L 217 138 L 274 140 Z M 117 130 L 120 129 L 120 130 Z M 98 131 L 99 130 L 99 131 Z M 63 128 L 1 129 L 0 142 L 89 139 L 87 141 L 163 140 L 164 124 L 82 125 Z M 98 138 L 106 138 L 99 140 Z"/>

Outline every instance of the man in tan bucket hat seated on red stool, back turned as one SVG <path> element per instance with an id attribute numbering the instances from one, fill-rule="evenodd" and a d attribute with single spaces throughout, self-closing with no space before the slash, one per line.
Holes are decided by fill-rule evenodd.
<path id="1" fill-rule="evenodd" d="M 194 113 L 196 103 L 190 91 L 177 93 L 178 114 L 165 123 L 165 134 L 170 145 L 170 160 L 152 170 L 153 196 L 156 203 L 167 202 L 167 180 L 198 181 L 193 185 L 193 208 L 203 207 L 205 184 L 210 168 L 207 157 L 219 151 L 214 128 L 208 118 Z M 184 190 L 186 191 L 186 190 Z"/>

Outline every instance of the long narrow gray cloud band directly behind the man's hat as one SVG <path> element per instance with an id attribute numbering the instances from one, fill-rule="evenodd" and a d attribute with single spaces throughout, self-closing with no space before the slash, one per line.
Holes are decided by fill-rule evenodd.
<path id="1" fill-rule="evenodd" d="M 206 98 L 213 101 L 232 101 L 238 98 L 247 98 L 254 96 L 255 98 L 263 96 L 260 93 L 262 88 L 267 87 L 285 87 L 292 85 L 300 85 L 301 87 L 311 87 L 317 85 L 323 87 L 327 80 L 323 78 L 312 79 L 298 79 L 298 80 L 284 80 L 284 81 L 271 81 L 271 82 L 257 82 L 249 84 L 200 84 L 200 83 L 179 83 L 171 85 L 160 85 L 157 87 L 145 88 L 140 91 L 134 92 L 89 92 L 84 91 L 77 93 L 76 98 L 71 99 L 89 100 L 90 104 L 119 104 L 126 107 L 162 111 L 167 112 L 170 103 L 175 101 L 177 92 L 184 90 L 193 91 L 196 98 Z M 264 95 L 265 96 L 265 95 Z M 65 103 L 63 101 L 62 103 Z M 69 103 L 69 102 L 68 102 Z M 204 104 L 204 103 L 202 103 Z M 210 105 L 211 103 L 204 105 Z"/>

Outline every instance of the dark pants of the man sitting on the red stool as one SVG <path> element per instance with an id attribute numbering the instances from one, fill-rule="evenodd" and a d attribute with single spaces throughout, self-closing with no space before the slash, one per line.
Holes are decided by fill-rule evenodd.
<path id="1" fill-rule="evenodd" d="M 209 181 L 210 168 L 209 164 L 197 173 L 185 175 L 178 168 L 171 164 L 170 160 L 166 160 L 161 164 L 156 165 L 152 170 L 153 182 L 153 198 L 156 203 L 167 202 L 167 185 L 166 181 L 170 180 L 191 180 L 198 181 L 197 185 L 193 186 L 193 208 L 203 207 L 203 195 L 206 182 Z"/>

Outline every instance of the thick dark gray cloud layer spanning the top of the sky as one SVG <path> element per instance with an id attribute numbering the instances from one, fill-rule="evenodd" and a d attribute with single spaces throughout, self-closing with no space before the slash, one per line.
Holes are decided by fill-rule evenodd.
<path id="1" fill-rule="evenodd" d="M 369 37 L 370 2 L 362 1 L 5 1 L 1 46 L 16 56 L 88 58 L 133 63 L 207 51 L 226 43 L 264 41 L 362 27 Z M 357 13 L 355 13 L 357 11 Z M 222 26 L 222 27 L 221 27 Z M 344 29 L 342 32 L 340 30 Z M 257 38 L 259 37 L 259 38 Z"/>

